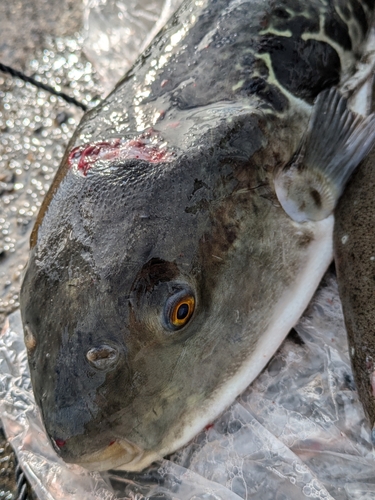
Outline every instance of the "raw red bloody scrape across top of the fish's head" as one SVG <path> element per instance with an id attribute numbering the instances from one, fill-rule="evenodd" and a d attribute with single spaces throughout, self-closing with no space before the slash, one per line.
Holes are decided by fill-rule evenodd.
<path id="1" fill-rule="evenodd" d="M 69 164 L 76 164 L 77 169 L 84 176 L 87 175 L 89 169 L 98 160 L 113 160 L 122 158 L 124 160 L 137 158 L 150 163 L 159 163 L 170 158 L 169 153 L 165 149 L 161 149 L 158 145 L 150 143 L 147 139 L 132 139 L 121 143 L 120 139 L 114 139 L 110 142 L 97 142 L 94 144 L 83 144 L 78 146 L 69 154 Z"/>

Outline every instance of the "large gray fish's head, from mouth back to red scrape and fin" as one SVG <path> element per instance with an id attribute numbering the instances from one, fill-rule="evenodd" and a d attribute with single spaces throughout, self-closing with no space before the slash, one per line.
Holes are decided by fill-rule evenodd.
<path id="1" fill-rule="evenodd" d="M 70 153 L 42 207 L 21 309 L 67 462 L 140 470 L 184 445 L 264 367 L 331 258 L 331 223 L 320 238 L 276 203 L 258 117 L 215 133 L 161 161 Z"/>

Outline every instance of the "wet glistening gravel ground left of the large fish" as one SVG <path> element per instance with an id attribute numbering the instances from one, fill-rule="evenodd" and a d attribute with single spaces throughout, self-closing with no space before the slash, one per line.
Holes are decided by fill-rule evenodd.
<path id="1" fill-rule="evenodd" d="M 77 0 L 0 2 L 0 62 L 78 100 L 98 94 L 81 50 Z M 38 208 L 82 111 L 0 73 L 0 327 L 17 309 Z M 1 417 L 1 415 L 0 415 Z M 15 457 L 0 427 L 0 499 L 15 496 Z"/>

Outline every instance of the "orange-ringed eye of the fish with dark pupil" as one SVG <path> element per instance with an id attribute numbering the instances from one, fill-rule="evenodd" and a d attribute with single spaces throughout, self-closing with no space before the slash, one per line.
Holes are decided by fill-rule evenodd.
<path id="1" fill-rule="evenodd" d="M 191 291 L 182 290 L 169 297 L 164 307 L 164 322 L 170 330 L 179 330 L 191 319 L 195 297 Z"/>

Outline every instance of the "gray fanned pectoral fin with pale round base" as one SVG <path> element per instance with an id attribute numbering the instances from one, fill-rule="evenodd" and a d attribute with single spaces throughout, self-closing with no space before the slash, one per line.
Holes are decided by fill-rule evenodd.
<path id="1" fill-rule="evenodd" d="M 297 222 L 328 217 L 374 142 L 374 114 L 364 118 L 348 110 L 335 89 L 319 94 L 297 152 L 275 176 L 285 212 Z"/>

